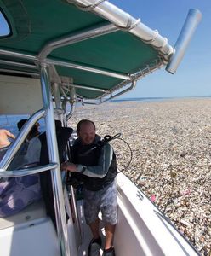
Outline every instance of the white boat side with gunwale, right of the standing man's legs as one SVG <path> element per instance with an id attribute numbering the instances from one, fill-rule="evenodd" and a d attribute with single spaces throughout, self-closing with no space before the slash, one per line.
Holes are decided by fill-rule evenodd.
<path id="1" fill-rule="evenodd" d="M 118 224 L 116 254 L 198 255 L 185 237 L 157 207 L 122 173 L 117 175 Z"/>

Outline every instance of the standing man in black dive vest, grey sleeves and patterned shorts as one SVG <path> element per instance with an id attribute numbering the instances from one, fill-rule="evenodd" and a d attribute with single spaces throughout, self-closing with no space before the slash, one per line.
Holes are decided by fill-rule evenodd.
<path id="1" fill-rule="evenodd" d="M 101 238 L 98 214 L 101 211 L 106 223 L 103 255 L 113 256 L 115 252 L 112 242 L 117 224 L 116 156 L 111 145 L 101 143 L 100 137 L 95 134 L 94 122 L 81 120 L 77 124 L 77 135 L 71 150 L 72 162 L 64 163 L 62 168 L 83 177 L 84 216 L 94 236 L 88 247 L 88 255 L 96 255 L 96 250 L 99 254 Z"/>

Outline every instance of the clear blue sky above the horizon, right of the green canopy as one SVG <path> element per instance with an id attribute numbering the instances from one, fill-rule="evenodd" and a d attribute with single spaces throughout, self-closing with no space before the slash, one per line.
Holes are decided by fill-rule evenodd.
<path id="1" fill-rule="evenodd" d="M 111 0 L 134 18 L 157 29 L 174 46 L 191 8 L 202 20 L 174 75 L 163 68 L 141 79 L 121 97 L 211 96 L 211 1 L 210 0 Z"/>

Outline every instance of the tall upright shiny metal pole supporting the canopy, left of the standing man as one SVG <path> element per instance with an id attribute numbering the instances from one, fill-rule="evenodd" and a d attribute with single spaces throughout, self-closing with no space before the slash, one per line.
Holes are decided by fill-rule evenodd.
<path id="1" fill-rule="evenodd" d="M 40 66 L 40 79 L 43 94 L 43 106 L 46 109 L 45 125 L 48 144 L 48 157 L 50 163 L 59 163 L 58 145 L 54 123 L 54 107 L 50 91 L 48 71 L 44 64 Z M 70 256 L 69 240 L 66 227 L 65 202 L 63 197 L 62 182 L 60 177 L 60 165 L 51 170 L 52 189 L 54 193 L 54 210 L 57 226 L 57 235 L 60 242 L 62 256 Z M 73 255 L 71 255 L 73 256 Z"/>

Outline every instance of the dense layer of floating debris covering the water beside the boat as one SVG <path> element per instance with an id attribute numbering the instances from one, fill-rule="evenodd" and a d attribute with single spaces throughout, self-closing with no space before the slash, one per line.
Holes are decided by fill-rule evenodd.
<path id="1" fill-rule="evenodd" d="M 70 123 L 75 128 L 80 119 L 92 119 L 102 137 L 121 132 L 133 150 L 124 173 L 206 256 L 211 256 L 210 110 L 210 99 L 107 102 L 77 108 Z M 127 145 L 111 145 L 118 165 L 127 166 Z"/>

